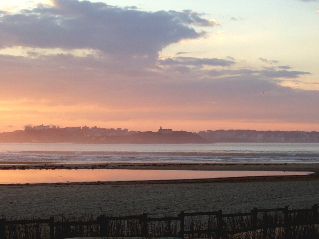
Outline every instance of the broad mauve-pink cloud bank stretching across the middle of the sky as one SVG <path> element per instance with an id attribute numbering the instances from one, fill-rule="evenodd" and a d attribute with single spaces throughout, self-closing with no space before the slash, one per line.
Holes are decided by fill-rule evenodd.
<path id="1" fill-rule="evenodd" d="M 199 60 L 190 62 L 201 66 Z M 50 122 L 263 119 L 317 123 L 319 92 L 284 87 L 276 81 L 307 72 L 200 70 L 177 63 L 131 71 L 130 66 L 109 65 L 94 57 L 1 56 L 0 81 L 6 91 L 0 99 L 32 97 L 39 102 L 33 106 L 33 117 L 43 118 L 49 112 Z M 42 99 L 46 103 L 40 103 Z"/>

